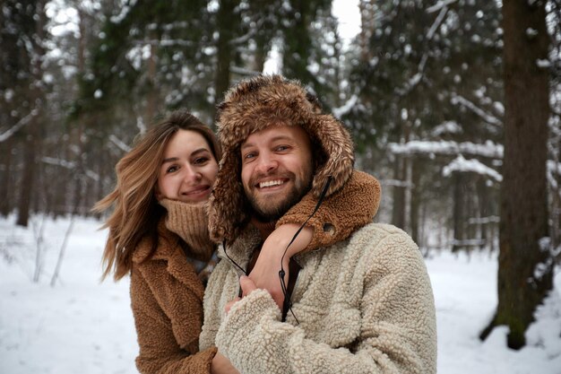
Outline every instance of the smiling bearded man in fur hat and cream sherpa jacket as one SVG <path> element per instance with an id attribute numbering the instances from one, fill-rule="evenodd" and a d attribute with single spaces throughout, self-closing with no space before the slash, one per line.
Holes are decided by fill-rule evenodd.
<path id="1" fill-rule="evenodd" d="M 218 125 L 224 155 L 209 225 L 225 245 L 205 291 L 200 347 L 216 344 L 241 373 L 436 372 L 427 270 L 415 243 L 391 225 L 368 224 L 283 266 L 285 310 L 249 278 L 238 281 L 310 188 L 321 202 L 350 177 L 352 144 L 341 124 L 299 83 L 276 75 L 232 88 Z"/>

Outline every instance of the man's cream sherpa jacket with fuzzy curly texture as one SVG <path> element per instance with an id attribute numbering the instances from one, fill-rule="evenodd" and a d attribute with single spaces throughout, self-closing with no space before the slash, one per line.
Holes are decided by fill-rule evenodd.
<path id="1" fill-rule="evenodd" d="M 258 243 L 245 232 L 229 256 L 246 264 Z M 224 256 L 220 248 L 220 256 Z M 237 302 L 237 272 L 223 259 L 204 295 L 200 349 L 214 344 L 242 374 L 435 373 L 436 317 L 427 269 L 410 237 L 372 223 L 350 239 L 298 257 L 293 311 L 280 322 L 271 296 Z"/>

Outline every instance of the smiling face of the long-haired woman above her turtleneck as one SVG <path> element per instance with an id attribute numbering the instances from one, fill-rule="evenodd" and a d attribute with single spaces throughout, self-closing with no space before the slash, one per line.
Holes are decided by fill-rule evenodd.
<path id="1" fill-rule="evenodd" d="M 211 194 L 218 162 L 203 135 L 177 130 L 163 154 L 156 185 L 156 198 L 184 203 L 204 202 Z"/>

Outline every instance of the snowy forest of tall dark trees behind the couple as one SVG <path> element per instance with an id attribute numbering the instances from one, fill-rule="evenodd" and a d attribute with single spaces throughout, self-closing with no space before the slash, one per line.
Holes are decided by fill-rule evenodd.
<path id="1" fill-rule="evenodd" d="M 103 218 L 137 135 L 179 108 L 213 126 L 231 83 L 280 73 L 350 129 L 375 221 L 498 257 L 477 334 L 521 349 L 561 262 L 561 1 L 357 0 L 352 38 L 332 3 L 3 0 L 0 215 Z"/>

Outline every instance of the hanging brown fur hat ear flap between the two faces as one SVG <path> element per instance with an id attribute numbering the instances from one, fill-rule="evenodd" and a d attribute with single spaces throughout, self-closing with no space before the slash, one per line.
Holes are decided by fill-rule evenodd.
<path id="1" fill-rule="evenodd" d="M 211 239 L 231 242 L 240 222 L 247 218 L 244 187 L 239 180 L 237 152 L 225 152 L 209 199 L 209 234 Z"/>

